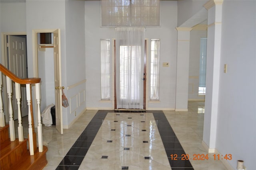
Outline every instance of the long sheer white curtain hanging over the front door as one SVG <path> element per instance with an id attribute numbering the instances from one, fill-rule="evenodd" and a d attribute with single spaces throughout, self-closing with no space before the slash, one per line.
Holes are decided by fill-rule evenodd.
<path id="1" fill-rule="evenodd" d="M 143 109 L 144 27 L 116 28 L 117 108 Z"/>

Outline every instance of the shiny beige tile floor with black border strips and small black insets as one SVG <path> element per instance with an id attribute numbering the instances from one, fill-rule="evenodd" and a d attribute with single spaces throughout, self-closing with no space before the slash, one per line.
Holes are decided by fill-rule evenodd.
<path id="1" fill-rule="evenodd" d="M 44 126 L 44 170 L 226 170 L 212 154 L 208 160 L 190 159 L 207 154 L 201 146 L 203 111 L 204 102 L 189 102 L 187 112 L 87 110 L 64 135 Z M 190 158 L 181 161 L 185 153 Z"/>

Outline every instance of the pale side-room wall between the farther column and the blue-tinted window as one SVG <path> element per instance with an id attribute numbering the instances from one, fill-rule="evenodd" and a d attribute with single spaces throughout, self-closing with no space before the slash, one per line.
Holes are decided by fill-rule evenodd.
<path id="1" fill-rule="evenodd" d="M 206 30 L 192 29 L 190 32 L 188 100 L 204 100 L 204 96 L 198 96 L 200 38 L 202 37 L 207 37 Z"/>

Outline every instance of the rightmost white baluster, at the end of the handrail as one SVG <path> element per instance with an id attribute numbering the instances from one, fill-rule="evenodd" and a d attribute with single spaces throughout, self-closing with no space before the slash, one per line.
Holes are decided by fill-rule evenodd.
<path id="1" fill-rule="evenodd" d="M 43 151 L 43 131 L 42 131 L 42 123 L 41 123 L 41 111 L 40 111 L 40 83 L 36 83 L 36 101 L 37 101 L 37 114 L 38 114 L 38 150 L 39 152 Z"/>

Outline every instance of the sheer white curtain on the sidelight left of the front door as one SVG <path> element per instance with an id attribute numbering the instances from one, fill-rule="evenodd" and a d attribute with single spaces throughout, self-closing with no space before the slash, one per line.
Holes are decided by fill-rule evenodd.
<path id="1" fill-rule="evenodd" d="M 101 100 L 110 100 L 110 39 L 100 39 Z"/>

